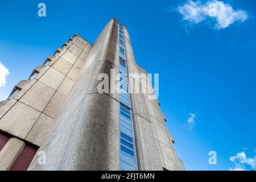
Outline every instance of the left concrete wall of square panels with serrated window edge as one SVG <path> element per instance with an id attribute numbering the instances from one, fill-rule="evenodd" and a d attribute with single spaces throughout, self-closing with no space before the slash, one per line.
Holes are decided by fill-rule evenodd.
<path id="1" fill-rule="evenodd" d="M 20 92 L 10 101 L 0 102 L 0 132 L 40 146 L 55 122 L 57 113 L 85 64 L 92 44 L 79 35 L 59 48 L 51 62 L 35 68 L 38 75 L 20 81 Z M 17 139 L 18 140 L 18 139 Z M 3 158 L 2 158 L 3 159 Z M 4 168 L 0 159 L 0 168 Z M 11 162 L 11 157 L 6 158 Z M 6 168 L 9 169 L 9 168 Z"/>

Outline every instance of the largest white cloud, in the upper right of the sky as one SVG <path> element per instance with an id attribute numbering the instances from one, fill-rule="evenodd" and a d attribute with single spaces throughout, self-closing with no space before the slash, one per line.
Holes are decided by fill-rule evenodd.
<path id="1" fill-rule="evenodd" d="M 183 6 L 177 7 L 177 11 L 183 16 L 183 20 L 190 23 L 214 19 L 217 29 L 229 27 L 236 21 L 244 22 L 248 18 L 246 11 L 234 10 L 228 3 L 217 0 L 210 0 L 204 4 L 188 0 Z"/>

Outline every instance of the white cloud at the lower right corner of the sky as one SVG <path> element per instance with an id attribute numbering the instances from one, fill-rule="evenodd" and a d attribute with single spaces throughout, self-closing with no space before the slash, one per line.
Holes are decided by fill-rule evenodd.
<path id="1" fill-rule="evenodd" d="M 229 160 L 233 162 L 235 166 L 234 168 L 229 168 L 230 171 L 247 171 L 249 169 L 256 169 L 256 155 L 254 158 L 247 158 L 245 152 L 240 152 L 235 156 L 231 156 Z"/>

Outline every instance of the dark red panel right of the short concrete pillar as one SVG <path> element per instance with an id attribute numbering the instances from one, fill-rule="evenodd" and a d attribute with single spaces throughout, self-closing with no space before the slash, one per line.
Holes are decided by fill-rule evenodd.
<path id="1" fill-rule="evenodd" d="M 26 171 L 37 150 L 38 149 L 35 147 L 26 145 L 22 153 L 18 156 L 18 159 L 16 159 L 13 164 L 13 167 L 11 167 L 11 171 Z"/>

